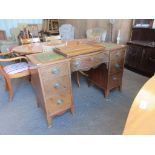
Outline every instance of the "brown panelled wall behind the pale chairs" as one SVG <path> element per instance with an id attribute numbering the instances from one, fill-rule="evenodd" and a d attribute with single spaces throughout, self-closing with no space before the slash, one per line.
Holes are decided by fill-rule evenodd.
<path id="1" fill-rule="evenodd" d="M 107 40 L 110 40 L 110 23 L 108 19 L 60 19 L 59 24 L 72 24 L 75 27 L 75 38 L 86 37 L 86 30 L 100 27 L 107 30 Z M 126 43 L 130 38 L 131 19 L 116 19 L 113 26 L 113 42 L 116 42 L 118 30 L 121 32 L 121 43 Z"/>

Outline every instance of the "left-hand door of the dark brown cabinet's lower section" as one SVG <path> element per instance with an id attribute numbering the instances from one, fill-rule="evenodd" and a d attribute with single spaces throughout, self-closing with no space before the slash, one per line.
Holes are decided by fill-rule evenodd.
<path id="1" fill-rule="evenodd" d="M 133 45 L 128 46 L 125 60 L 126 65 L 135 69 L 139 69 L 141 64 L 142 52 L 142 47 Z"/>

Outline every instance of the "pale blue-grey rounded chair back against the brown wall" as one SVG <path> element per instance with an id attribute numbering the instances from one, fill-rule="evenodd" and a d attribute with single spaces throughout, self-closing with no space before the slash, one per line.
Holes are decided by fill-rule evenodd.
<path id="1" fill-rule="evenodd" d="M 59 28 L 59 33 L 62 40 L 74 39 L 74 27 L 71 24 L 63 24 Z"/>

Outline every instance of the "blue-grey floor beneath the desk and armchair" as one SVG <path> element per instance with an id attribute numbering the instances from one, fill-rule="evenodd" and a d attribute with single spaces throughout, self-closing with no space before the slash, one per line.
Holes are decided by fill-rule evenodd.
<path id="1" fill-rule="evenodd" d="M 0 134 L 121 134 L 133 99 L 147 80 L 125 70 L 122 92 L 113 90 L 107 99 L 100 89 L 88 87 L 85 78 L 81 78 L 80 88 L 73 80 L 74 115 L 66 112 L 55 117 L 53 127 L 48 129 L 31 84 L 25 79 L 13 80 L 14 99 L 9 103 L 0 77 Z"/>

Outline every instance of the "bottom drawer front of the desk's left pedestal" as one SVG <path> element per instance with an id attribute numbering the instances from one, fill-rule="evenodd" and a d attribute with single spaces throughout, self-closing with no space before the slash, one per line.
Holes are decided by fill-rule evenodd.
<path id="1" fill-rule="evenodd" d="M 69 109 L 72 105 L 72 99 L 69 93 L 63 93 L 49 98 L 46 103 L 48 114 L 54 115 Z"/>

